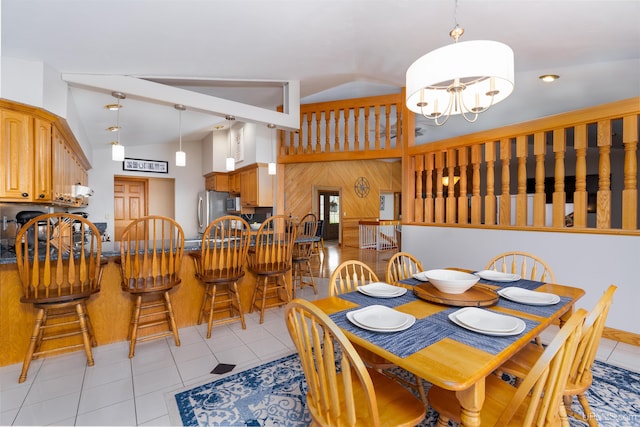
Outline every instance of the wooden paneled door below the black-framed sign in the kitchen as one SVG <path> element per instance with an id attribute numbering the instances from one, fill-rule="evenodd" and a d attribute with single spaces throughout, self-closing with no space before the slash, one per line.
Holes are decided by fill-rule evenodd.
<path id="1" fill-rule="evenodd" d="M 122 231 L 136 218 L 147 215 L 147 180 L 115 178 L 113 181 L 114 241 L 119 241 Z"/>

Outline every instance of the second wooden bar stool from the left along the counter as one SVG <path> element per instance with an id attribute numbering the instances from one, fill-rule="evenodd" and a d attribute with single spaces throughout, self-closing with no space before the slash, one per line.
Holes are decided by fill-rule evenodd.
<path id="1" fill-rule="evenodd" d="M 184 232 L 172 218 L 137 218 L 122 232 L 122 290 L 134 297 L 127 336 L 129 358 L 134 356 L 137 342 L 173 336 L 180 346 L 170 291 L 182 281 L 183 255 Z"/>

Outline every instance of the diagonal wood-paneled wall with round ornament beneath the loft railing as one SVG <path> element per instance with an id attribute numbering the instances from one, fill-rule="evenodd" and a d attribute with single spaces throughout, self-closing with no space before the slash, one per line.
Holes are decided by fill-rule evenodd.
<path id="1" fill-rule="evenodd" d="M 285 165 L 284 214 L 302 218 L 316 215 L 315 189 L 341 191 L 341 243 L 358 246 L 358 221 L 375 219 L 380 214 L 380 192 L 402 190 L 402 162 L 353 160 Z M 369 181 L 369 194 L 359 197 L 354 184 L 359 177 Z"/>

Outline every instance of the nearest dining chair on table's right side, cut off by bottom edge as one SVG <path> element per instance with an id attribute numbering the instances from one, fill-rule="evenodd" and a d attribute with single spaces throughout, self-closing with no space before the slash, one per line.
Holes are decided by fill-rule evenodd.
<path id="1" fill-rule="evenodd" d="M 531 370 L 518 385 L 497 375 L 485 378 L 484 403 L 480 410 L 483 426 L 568 425 L 562 390 L 575 357 L 586 310 L 577 310 L 553 338 Z M 456 392 L 436 385 L 429 389 L 429 404 L 438 412 L 438 425 L 449 420 L 463 423 Z"/>

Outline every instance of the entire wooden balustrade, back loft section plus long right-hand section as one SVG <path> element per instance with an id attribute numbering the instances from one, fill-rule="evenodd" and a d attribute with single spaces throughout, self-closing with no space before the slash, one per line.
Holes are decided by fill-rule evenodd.
<path id="1" fill-rule="evenodd" d="M 402 158 L 405 224 L 640 234 L 640 97 L 421 145 L 402 99 L 302 105 L 278 162 Z"/>

